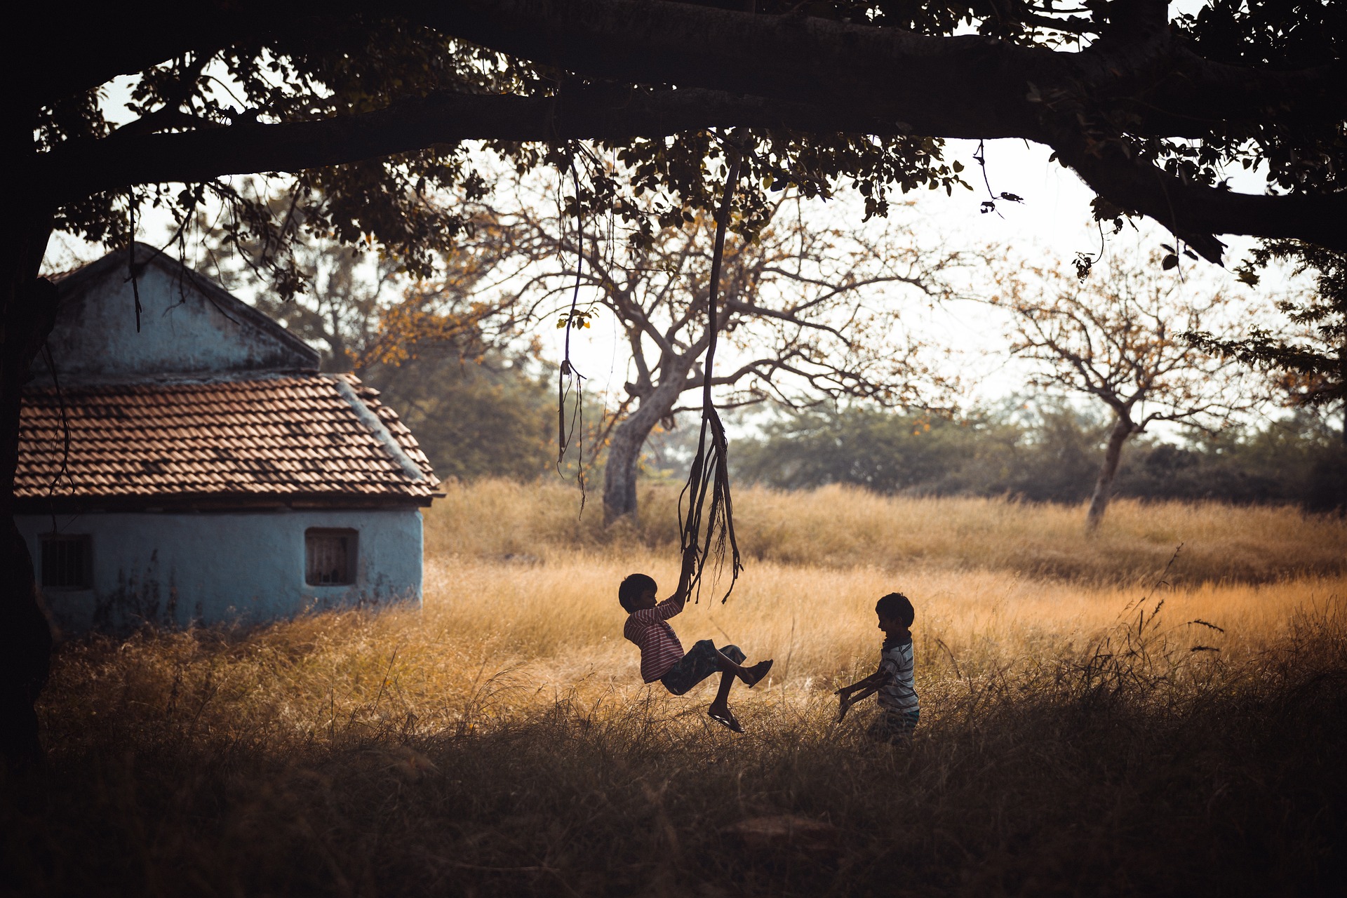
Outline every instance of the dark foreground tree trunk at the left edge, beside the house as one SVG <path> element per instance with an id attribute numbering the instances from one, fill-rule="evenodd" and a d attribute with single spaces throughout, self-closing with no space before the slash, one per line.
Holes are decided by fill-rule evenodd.
<path id="1" fill-rule="evenodd" d="M 47 681 L 51 630 L 13 520 L 13 478 L 23 385 L 57 311 L 55 287 L 38 279 L 50 218 L 31 214 L 24 186 L 15 193 L 0 223 L 0 753 L 12 769 L 42 757 L 34 701 Z"/>

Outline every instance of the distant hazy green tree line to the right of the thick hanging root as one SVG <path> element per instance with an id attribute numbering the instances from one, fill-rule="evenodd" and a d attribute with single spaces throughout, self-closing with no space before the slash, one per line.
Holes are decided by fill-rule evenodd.
<path id="1" fill-rule="evenodd" d="M 963 419 L 865 408 L 779 419 L 731 451 L 741 479 L 777 489 L 827 483 L 908 495 L 1013 495 L 1078 504 L 1090 498 L 1110 421 L 1064 404 L 1030 404 Z M 1299 409 L 1261 428 L 1154 436 L 1123 455 L 1118 497 L 1347 505 L 1340 431 Z"/>

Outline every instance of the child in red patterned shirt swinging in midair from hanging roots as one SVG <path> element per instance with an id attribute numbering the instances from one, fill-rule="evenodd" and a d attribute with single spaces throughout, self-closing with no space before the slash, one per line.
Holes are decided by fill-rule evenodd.
<path id="1" fill-rule="evenodd" d="M 744 727 L 730 711 L 730 687 L 734 685 L 734 677 L 738 677 L 752 689 L 772 669 L 772 661 L 758 661 L 752 668 L 741 666 L 744 652 L 737 645 L 717 649 L 710 640 L 696 642 L 692 650 L 684 654 L 683 644 L 667 622 L 683 610 L 695 567 L 696 549 L 687 549 L 683 553 L 683 574 L 679 576 L 678 591 L 659 603 L 655 600 L 659 586 L 651 576 L 633 574 L 622 580 L 617 587 L 617 600 L 628 613 L 622 635 L 641 650 L 641 679 L 647 683 L 659 680 L 674 695 L 683 695 L 719 670 L 721 689 L 706 712 L 713 720 L 734 732 L 744 732 Z"/>

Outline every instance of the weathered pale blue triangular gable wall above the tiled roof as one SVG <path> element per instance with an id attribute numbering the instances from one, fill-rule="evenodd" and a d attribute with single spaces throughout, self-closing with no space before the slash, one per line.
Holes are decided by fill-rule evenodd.
<path id="1" fill-rule="evenodd" d="M 59 284 L 48 345 L 62 381 L 317 370 L 311 347 L 201 275 L 156 257 L 140 265 L 133 289 L 128 267 L 116 261 L 94 263 Z M 50 377 L 40 358 L 34 372 Z"/>

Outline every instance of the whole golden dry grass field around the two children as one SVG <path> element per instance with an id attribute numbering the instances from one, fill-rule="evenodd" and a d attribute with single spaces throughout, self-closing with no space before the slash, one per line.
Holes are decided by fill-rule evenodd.
<path id="1" fill-rule="evenodd" d="M 672 586 L 676 494 L 603 530 L 559 486 L 451 487 L 426 602 L 63 645 L 19 894 L 1153 895 L 1339 887 L 1347 524 L 737 494 L 748 571 L 674 621 L 775 657 L 640 684 L 616 583 Z M 597 505 L 597 502 L 595 502 Z M 1183 549 L 1175 557 L 1179 544 Z M 909 746 L 835 723 L 912 596 Z"/>

